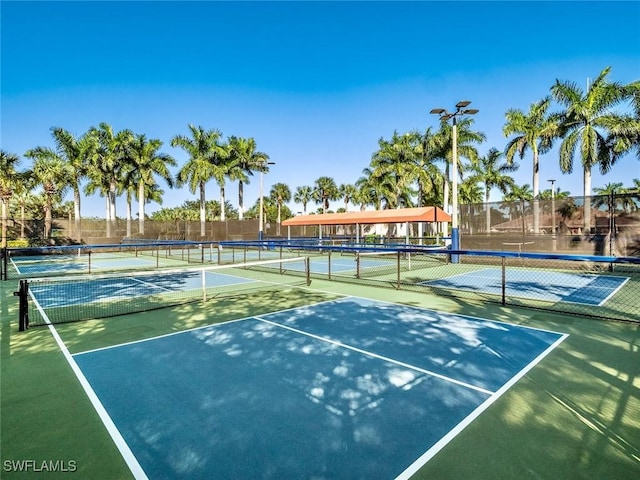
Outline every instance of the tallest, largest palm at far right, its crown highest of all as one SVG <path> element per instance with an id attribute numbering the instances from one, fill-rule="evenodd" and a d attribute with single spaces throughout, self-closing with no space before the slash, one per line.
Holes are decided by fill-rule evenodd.
<path id="1" fill-rule="evenodd" d="M 607 67 L 584 92 L 575 82 L 560 82 L 551 87 L 553 98 L 565 107 L 560 114 L 560 169 L 571 173 L 579 150 L 584 175 L 584 229 L 591 230 L 591 169 L 596 165 L 605 174 L 616 156 L 608 136 L 611 128 L 621 123 L 613 108 L 625 99 L 626 91 L 618 83 L 607 81 Z"/>

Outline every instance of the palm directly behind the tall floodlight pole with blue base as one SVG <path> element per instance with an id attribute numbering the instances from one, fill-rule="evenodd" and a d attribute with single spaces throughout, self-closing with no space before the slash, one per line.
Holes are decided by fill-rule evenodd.
<path id="1" fill-rule="evenodd" d="M 478 150 L 475 144 L 481 144 L 486 140 L 486 135 L 482 132 L 472 130 L 474 119 L 463 117 L 456 123 L 457 153 L 458 153 L 458 174 L 464 174 L 462 159 L 474 161 L 478 157 Z M 433 158 L 444 162 L 443 177 L 443 206 L 449 209 L 449 184 L 451 175 L 450 166 L 453 164 L 453 126 L 446 119 L 440 121 L 440 129 L 433 138 Z"/>

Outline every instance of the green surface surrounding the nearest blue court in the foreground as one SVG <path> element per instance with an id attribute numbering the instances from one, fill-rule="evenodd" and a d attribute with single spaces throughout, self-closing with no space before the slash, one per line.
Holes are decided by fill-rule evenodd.
<path id="1" fill-rule="evenodd" d="M 16 288 L 0 283 L 1 478 L 133 478 L 49 328 L 18 332 Z M 347 295 L 568 334 L 412 478 L 640 477 L 639 323 L 314 279 L 55 329 L 74 354 Z"/>

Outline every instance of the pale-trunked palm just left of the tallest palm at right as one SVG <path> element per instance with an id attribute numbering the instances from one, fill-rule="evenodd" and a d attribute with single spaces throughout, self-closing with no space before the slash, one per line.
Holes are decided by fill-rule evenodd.
<path id="1" fill-rule="evenodd" d="M 540 230 L 540 212 L 537 201 L 540 193 L 540 155 L 547 153 L 553 146 L 553 139 L 558 134 L 557 115 L 549 115 L 547 112 L 551 105 L 551 98 L 544 97 L 536 103 L 532 103 L 527 113 L 509 109 L 505 115 L 506 123 L 502 129 L 505 137 L 515 134 L 507 143 L 505 154 L 507 161 L 513 163 L 516 153 L 520 159 L 524 158 L 527 150 L 531 150 L 533 156 L 533 231 Z"/>

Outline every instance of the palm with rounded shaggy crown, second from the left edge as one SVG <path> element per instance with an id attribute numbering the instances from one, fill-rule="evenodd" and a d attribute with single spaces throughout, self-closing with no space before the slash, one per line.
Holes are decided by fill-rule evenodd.
<path id="1" fill-rule="evenodd" d="M 45 196 L 44 237 L 51 237 L 51 223 L 54 199 L 61 199 L 69 185 L 69 169 L 64 161 L 52 150 L 37 147 L 25 153 L 33 159 L 33 177 L 36 185 L 42 186 Z"/>

